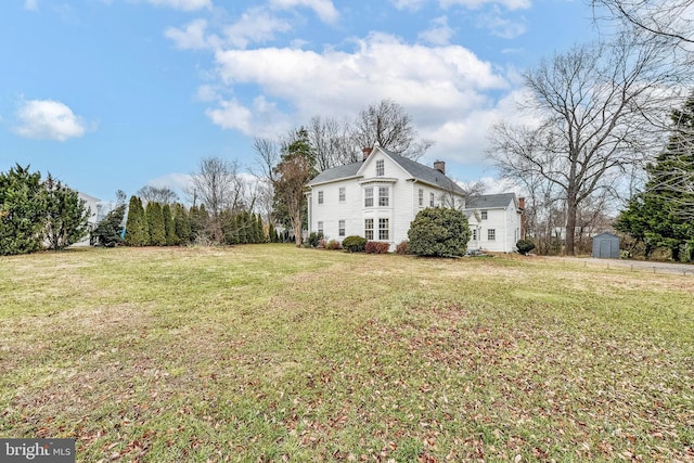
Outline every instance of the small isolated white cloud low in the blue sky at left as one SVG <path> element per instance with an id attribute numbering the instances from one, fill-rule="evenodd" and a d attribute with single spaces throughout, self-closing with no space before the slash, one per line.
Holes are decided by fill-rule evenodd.
<path id="1" fill-rule="evenodd" d="M 82 137 L 88 128 L 65 104 L 52 100 L 30 100 L 21 103 L 15 132 L 30 139 L 66 141 Z"/>

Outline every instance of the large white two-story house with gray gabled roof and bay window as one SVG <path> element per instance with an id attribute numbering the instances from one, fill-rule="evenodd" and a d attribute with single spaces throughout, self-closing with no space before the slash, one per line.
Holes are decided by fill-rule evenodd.
<path id="1" fill-rule="evenodd" d="M 326 240 L 337 241 L 359 235 L 389 243 L 390 250 L 408 239 L 410 223 L 420 210 L 435 206 L 465 210 L 466 206 L 462 189 L 446 176 L 446 163 L 436 162 L 430 168 L 380 146 L 364 150 L 364 158 L 359 163 L 324 170 L 307 183 L 307 189 L 309 233 L 322 232 Z M 493 206 L 487 210 L 485 227 L 494 223 L 499 235 L 493 243 L 471 242 L 468 248 L 513 250 L 517 241 L 513 237 L 517 234 L 511 231 L 511 236 L 505 236 L 505 233 L 513 223 L 517 222 L 519 228 L 517 208 L 513 213 L 507 210 L 518 215 L 516 222 L 504 218 L 499 226 L 497 216 L 502 209 Z M 493 248 L 486 244 L 492 244 Z"/>

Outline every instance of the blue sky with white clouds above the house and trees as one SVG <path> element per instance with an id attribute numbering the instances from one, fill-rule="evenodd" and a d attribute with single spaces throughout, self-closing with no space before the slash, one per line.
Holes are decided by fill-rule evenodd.
<path id="1" fill-rule="evenodd" d="M 595 36 L 586 0 L 2 0 L 0 171 L 181 191 L 204 157 L 249 168 L 256 137 L 389 99 L 435 142 L 420 162 L 493 189 L 522 73 Z"/>

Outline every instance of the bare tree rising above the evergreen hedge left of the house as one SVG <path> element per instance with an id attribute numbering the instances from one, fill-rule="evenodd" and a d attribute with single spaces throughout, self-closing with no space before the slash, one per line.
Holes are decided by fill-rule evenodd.
<path id="1" fill-rule="evenodd" d="M 239 163 L 220 157 L 201 159 L 198 171 L 192 176 L 193 203 L 200 201 L 209 214 L 207 232 L 217 243 L 223 242 L 222 213 L 239 211 L 243 207 L 245 185 L 239 177 Z"/>

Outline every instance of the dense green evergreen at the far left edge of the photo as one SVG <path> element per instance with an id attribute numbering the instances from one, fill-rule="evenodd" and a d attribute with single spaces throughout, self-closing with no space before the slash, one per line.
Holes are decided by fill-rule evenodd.
<path id="1" fill-rule="evenodd" d="M 18 164 L 0 172 L 0 255 L 41 248 L 47 198 L 39 172 Z"/>

